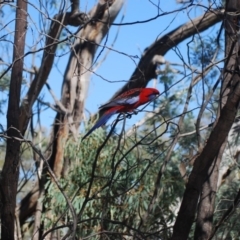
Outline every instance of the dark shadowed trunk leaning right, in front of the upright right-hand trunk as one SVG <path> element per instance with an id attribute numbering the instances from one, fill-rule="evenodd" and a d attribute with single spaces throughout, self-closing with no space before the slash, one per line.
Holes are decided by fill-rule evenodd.
<path id="1" fill-rule="evenodd" d="M 238 81 L 239 76 L 234 74 L 234 78 Z M 226 139 L 237 113 L 240 101 L 240 86 L 237 81 L 233 85 L 226 105 L 221 110 L 220 118 L 210 134 L 207 145 L 194 163 L 193 170 L 186 186 L 181 208 L 174 225 L 172 239 L 187 239 L 188 237 L 191 225 L 195 218 L 197 203 L 202 191 L 203 183 L 209 178 L 209 168 Z M 228 118 L 226 118 L 226 116 L 228 116 Z"/>

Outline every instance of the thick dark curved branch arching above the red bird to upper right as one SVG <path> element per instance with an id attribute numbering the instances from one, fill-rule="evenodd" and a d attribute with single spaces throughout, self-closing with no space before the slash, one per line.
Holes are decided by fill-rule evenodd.
<path id="1" fill-rule="evenodd" d="M 126 90 L 145 87 L 151 79 L 156 77 L 157 63 L 153 61 L 156 55 L 164 56 L 171 48 L 177 46 L 188 37 L 202 32 L 220 22 L 222 20 L 223 13 L 224 10 L 209 11 L 203 16 L 174 29 L 170 33 L 167 33 L 155 41 L 150 47 L 145 49 L 143 56 L 128 83 L 117 91 L 111 99 Z"/>

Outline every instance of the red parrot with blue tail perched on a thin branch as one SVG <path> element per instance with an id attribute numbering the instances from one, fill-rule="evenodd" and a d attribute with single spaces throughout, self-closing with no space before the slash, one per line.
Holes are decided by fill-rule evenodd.
<path id="1" fill-rule="evenodd" d="M 159 91 L 155 88 L 134 88 L 126 91 L 114 98 L 110 102 L 99 107 L 100 110 L 105 111 L 98 119 L 96 124 L 87 132 L 82 138 L 85 139 L 95 129 L 103 126 L 116 113 L 129 113 L 134 111 L 140 105 L 152 101 L 159 95 Z"/>

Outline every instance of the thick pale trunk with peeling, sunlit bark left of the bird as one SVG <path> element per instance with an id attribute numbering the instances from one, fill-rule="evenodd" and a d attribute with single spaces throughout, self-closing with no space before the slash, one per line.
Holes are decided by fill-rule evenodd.
<path id="1" fill-rule="evenodd" d="M 63 106 L 66 113 L 57 113 L 54 126 L 53 151 L 50 165 L 57 177 L 65 171 L 64 145 L 69 131 L 76 138 L 83 117 L 85 99 L 92 74 L 92 64 L 98 45 L 109 31 L 111 23 L 121 10 L 123 0 L 99 1 L 90 12 L 92 19 L 76 36 L 76 41 L 64 74 Z"/>

